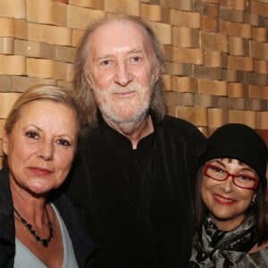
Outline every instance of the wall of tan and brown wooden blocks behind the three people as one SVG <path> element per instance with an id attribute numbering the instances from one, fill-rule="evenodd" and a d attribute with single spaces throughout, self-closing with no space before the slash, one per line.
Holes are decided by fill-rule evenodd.
<path id="1" fill-rule="evenodd" d="M 83 30 L 114 13 L 141 17 L 155 29 L 168 67 L 170 114 L 205 135 L 243 122 L 268 142 L 267 0 L 1 0 L 0 133 L 25 88 L 71 87 Z"/>

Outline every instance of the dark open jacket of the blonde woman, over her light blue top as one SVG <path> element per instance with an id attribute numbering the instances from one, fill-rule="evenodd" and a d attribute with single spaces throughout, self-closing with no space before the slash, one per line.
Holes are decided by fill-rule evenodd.
<path id="1" fill-rule="evenodd" d="M 83 222 L 67 197 L 59 191 L 51 195 L 51 201 L 63 218 L 71 238 L 74 254 L 79 267 L 91 267 L 96 247 L 88 235 Z M 15 224 L 13 198 L 10 190 L 8 171 L 0 171 L 0 267 L 12 268 L 15 255 Z"/>

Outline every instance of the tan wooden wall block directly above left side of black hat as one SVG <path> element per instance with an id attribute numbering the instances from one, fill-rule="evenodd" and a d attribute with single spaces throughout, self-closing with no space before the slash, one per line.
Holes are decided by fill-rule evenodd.
<path id="1" fill-rule="evenodd" d="M 229 111 L 222 108 L 208 108 L 207 123 L 210 129 L 217 129 L 229 122 Z"/>

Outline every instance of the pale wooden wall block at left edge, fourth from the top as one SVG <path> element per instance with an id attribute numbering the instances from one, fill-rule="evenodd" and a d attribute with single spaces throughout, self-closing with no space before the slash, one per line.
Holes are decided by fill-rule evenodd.
<path id="1" fill-rule="evenodd" d="M 0 74 L 25 75 L 25 57 L 21 55 L 0 54 Z"/>

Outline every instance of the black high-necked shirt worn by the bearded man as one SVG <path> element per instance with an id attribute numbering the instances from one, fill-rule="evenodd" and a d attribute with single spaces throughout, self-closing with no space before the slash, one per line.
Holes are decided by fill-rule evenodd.
<path id="1" fill-rule="evenodd" d="M 94 267 L 187 266 L 204 141 L 193 125 L 169 116 L 136 150 L 105 121 L 89 133 L 67 193 L 100 247 Z"/>

